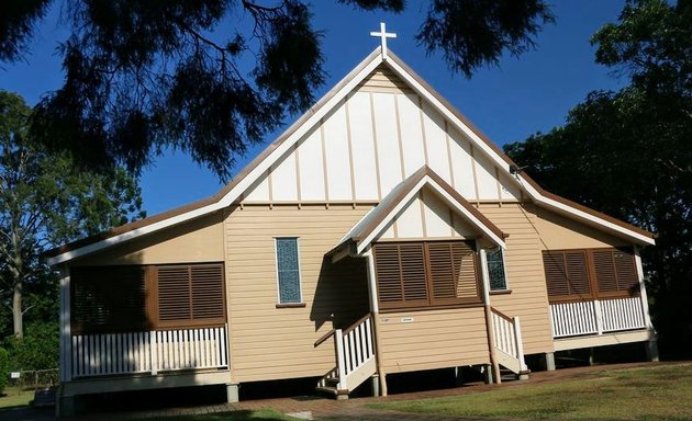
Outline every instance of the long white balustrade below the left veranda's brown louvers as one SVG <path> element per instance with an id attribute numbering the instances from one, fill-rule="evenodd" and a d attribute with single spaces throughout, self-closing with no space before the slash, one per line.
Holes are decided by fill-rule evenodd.
<path id="1" fill-rule="evenodd" d="M 72 377 L 228 366 L 225 327 L 75 334 L 71 348 Z"/>

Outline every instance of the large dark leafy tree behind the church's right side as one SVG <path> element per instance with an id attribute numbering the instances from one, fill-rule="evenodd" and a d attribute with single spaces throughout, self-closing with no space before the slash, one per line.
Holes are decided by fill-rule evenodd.
<path id="1" fill-rule="evenodd" d="M 658 234 L 643 250 L 662 352 L 692 349 L 692 2 L 628 1 L 592 38 L 629 77 L 592 92 L 562 127 L 505 151 L 548 190 Z"/>

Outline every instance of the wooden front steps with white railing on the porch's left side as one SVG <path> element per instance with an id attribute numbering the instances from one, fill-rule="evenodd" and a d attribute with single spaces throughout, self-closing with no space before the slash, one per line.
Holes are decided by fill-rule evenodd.
<path id="1" fill-rule="evenodd" d="M 336 367 L 317 382 L 317 390 L 334 395 L 337 399 L 346 398 L 377 371 L 372 318 L 367 315 L 346 330 L 334 329 L 317 340 L 315 346 L 330 337 L 334 338 Z"/>

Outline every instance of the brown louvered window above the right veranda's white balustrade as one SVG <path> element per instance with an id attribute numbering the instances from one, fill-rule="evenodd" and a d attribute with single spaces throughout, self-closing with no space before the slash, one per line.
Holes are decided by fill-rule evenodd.
<path id="1" fill-rule="evenodd" d="M 543 263 L 551 301 L 639 294 L 634 255 L 627 249 L 544 251 Z"/>

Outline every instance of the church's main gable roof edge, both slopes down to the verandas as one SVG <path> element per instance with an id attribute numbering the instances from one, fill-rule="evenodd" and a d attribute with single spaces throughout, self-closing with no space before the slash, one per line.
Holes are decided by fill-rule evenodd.
<path id="1" fill-rule="evenodd" d="M 470 138 L 473 145 L 478 146 L 490 157 L 501 171 L 510 175 L 513 183 L 526 191 L 529 197 L 538 205 L 600 227 L 620 237 L 625 237 L 636 243 L 654 244 L 654 235 L 651 232 L 549 193 L 525 173 L 513 174 L 510 171 L 510 167 L 515 166 L 515 163 L 500 148 L 391 50 L 387 58 L 382 58 L 380 47 L 378 47 L 259 153 L 231 183 L 213 196 L 53 249 L 46 252 L 48 264 L 64 263 L 230 206 L 380 65 L 391 69 L 414 92 L 431 103 L 456 129 Z"/>

